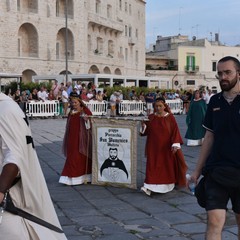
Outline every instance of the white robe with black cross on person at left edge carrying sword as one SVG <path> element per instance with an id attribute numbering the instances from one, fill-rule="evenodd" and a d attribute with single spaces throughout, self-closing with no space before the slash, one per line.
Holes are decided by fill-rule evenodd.
<path id="1" fill-rule="evenodd" d="M 6 163 L 16 164 L 21 180 L 10 189 L 15 206 L 61 228 L 36 151 L 32 144 L 26 142 L 26 136 L 31 136 L 31 130 L 24 117 L 20 107 L 11 98 L 0 93 L 0 172 Z M 2 144 L 6 144 L 10 157 L 2 149 Z M 1 239 L 8 240 L 67 239 L 63 233 L 8 212 L 3 213 L 0 234 Z"/>

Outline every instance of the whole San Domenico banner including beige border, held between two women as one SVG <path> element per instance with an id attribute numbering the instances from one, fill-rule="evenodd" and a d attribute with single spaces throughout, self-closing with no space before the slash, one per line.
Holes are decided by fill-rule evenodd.
<path id="1" fill-rule="evenodd" d="M 92 184 L 137 188 L 137 121 L 92 118 Z"/>

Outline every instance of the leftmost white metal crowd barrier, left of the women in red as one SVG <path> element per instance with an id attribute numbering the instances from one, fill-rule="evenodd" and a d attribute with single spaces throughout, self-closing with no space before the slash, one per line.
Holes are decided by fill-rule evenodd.
<path id="1" fill-rule="evenodd" d="M 53 117 L 59 115 L 59 101 L 29 101 L 26 104 L 28 117 Z"/>

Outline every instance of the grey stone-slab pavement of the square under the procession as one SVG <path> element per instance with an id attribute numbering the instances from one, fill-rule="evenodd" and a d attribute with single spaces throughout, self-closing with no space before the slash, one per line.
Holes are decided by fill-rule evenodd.
<path id="1" fill-rule="evenodd" d="M 184 137 L 186 115 L 176 115 Z M 145 137 L 138 139 L 138 189 L 97 185 L 64 186 L 58 183 L 64 165 L 61 151 L 66 119 L 30 120 L 38 157 L 59 220 L 69 240 L 202 240 L 205 210 L 187 189 L 151 197 L 139 189 L 145 177 Z M 186 143 L 186 139 L 184 139 Z M 193 170 L 200 147 L 183 145 Z M 227 214 L 223 239 L 234 240 L 237 228 L 232 211 Z"/>

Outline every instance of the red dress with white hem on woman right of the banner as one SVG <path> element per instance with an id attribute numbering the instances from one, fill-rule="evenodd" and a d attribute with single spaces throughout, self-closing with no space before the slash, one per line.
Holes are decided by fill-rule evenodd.
<path id="1" fill-rule="evenodd" d="M 178 166 L 172 146 L 183 144 L 175 117 L 167 113 L 163 117 L 149 115 L 146 130 L 146 179 L 144 187 L 153 192 L 169 192 L 177 182 Z"/>

